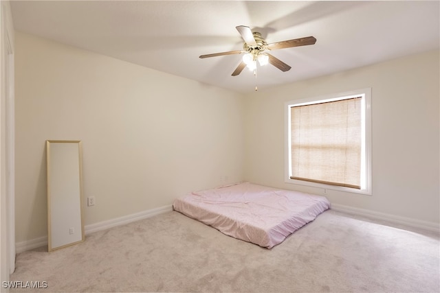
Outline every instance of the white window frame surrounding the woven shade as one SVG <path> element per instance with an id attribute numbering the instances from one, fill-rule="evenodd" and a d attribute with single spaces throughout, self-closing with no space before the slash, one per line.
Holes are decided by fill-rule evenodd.
<path id="1" fill-rule="evenodd" d="M 292 135 L 290 115 L 293 106 L 305 106 L 310 104 L 318 104 L 322 102 L 335 102 L 349 97 L 362 97 L 362 163 L 361 163 L 361 189 L 351 187 L 340 187 L 327 185 L 323 183 L 314 183 L 304 180 L 291 179 L 292 176 Z M 336 93 L 331 95 L 323 95 L 320 97 L 308 97 L 305 99 L 294 99 L 285 102 L 285 183 L 306 185 L 309 187 L 318 187 L 322 189 L 352 192 L 356 194 L 371 195 L 371 88 L 358 89 L 344 93 Z M 326 192 L 325 192 L 326 193 Z"/>

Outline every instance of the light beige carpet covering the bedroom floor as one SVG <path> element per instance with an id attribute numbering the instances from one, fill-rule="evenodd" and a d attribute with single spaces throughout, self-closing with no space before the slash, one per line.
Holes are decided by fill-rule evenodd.
<path id="1" fill-rule="evenodd" d="M 176 211 L 17 255 L 11 292 L 439 292 L 439 236 L 325 211 L 271 250 Z"/>

